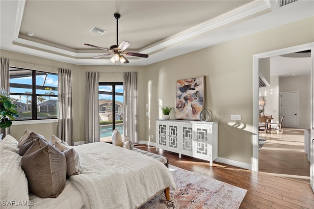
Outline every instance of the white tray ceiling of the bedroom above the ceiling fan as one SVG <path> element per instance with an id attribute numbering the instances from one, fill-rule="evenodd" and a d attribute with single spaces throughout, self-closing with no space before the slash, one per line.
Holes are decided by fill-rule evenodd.
<path id="1" fill-rule="evenodd" d="M 79 65 L 112 65 L 110 56 L 92 58 L 107 51 L 84 43 L 115 45 L 114 13 L 121 14 L 118 44 L 125 40 L 127 51 L 149 54 L 127 56 L 127 65 L 152 64 L 314 15 L 313 0 L 280 8 L 277 0 L 0 0 L 0 7 L 1 49 Z M 98 35 L 89 31 L 93 26 L 107 31 Z"/>

